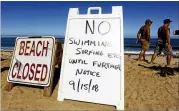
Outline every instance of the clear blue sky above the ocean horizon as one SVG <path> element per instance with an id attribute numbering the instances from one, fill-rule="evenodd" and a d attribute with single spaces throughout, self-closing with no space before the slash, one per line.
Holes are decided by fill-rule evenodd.
<path id="1" fill-rule="evenodd" d="M 163 20 L 172 20 L 171 34 L 179 29 L 179 1 L 73 1 L 73 2 L 1 2 L 2 35 L 65 35 L 69 8 L 86 14 L 88 7 L 101 7 L 111 13 L 112 6 L 123 6 L 124 37 L 136 37 L 146 19 L 151 19 L 151 35 L 156 36 Z"/>

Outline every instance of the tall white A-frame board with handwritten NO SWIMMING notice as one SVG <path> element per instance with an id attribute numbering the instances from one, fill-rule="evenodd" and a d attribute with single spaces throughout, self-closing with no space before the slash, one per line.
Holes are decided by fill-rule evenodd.
<path id="1" fill-rule="evenodd" d="M 99 10 L 99 14 L 90 14 Z M 57 100 L 72 99 L 124 110 L 124 48 L 122 6 L 112 14 L 100 7 L 69 10 Z"/>

